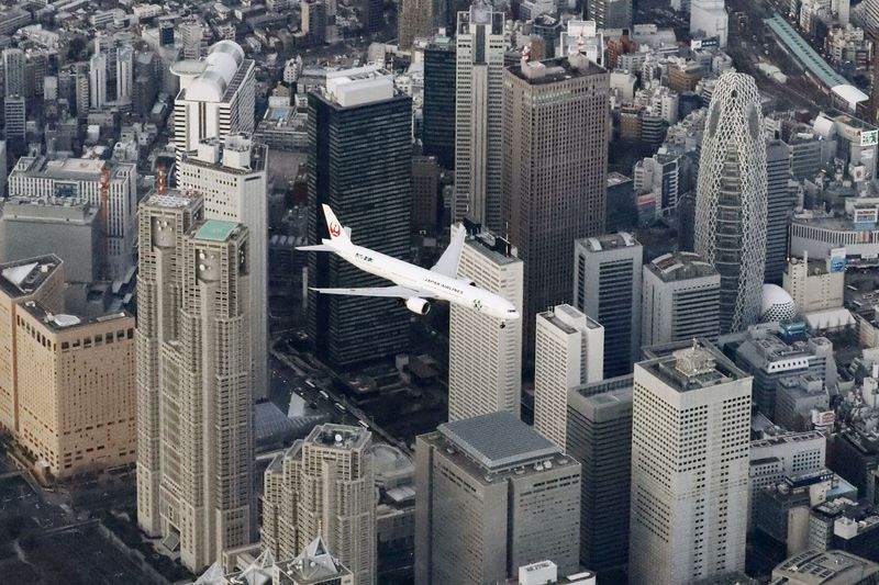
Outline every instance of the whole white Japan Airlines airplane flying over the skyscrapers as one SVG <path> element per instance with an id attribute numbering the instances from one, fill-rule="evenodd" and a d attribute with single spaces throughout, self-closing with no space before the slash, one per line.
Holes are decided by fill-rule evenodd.
<path id="1" fill-rule="evenodd" d="M 344 227 L 329 205 L 323 205 L 330 239 L 298 250 L 334 252 L 365 272 L 393 282 L 390 286 L 361 289 L 312 289 L 321 294 L 386 296 L 400 300 L 412 313 L 426 315 L 431 301 L 447 301 L 477 313 L 500 319 L 500 327 L 519 319 L 519 311 L 510 301 L 478 288 L 474 281 L 457 277 L 466 230 L 459 227 L 439 261 L 430 270 L 403 260 L 357 246 L 351 240 L 351 228 Z"/>

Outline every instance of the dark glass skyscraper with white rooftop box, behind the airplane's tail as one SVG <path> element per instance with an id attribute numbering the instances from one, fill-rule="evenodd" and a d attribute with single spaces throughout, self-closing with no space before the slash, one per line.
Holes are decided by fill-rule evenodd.
<path id="1" fill-rule="evenodd" d="M 412 100 L 375 68 L 327 74 L 309 94 L 309 241 L 329 238 L 321 204 L 360 246 L 405 258 L 411 209 Z M 368 172 L 366 171 L 368 169 Z M 332 254 L 312 254 L 309 285 L 380 286 Z M 393 300 L 309 292 L 309 335 L 336 367 L 391 357 L 409 342 L 409 313 Z"/>

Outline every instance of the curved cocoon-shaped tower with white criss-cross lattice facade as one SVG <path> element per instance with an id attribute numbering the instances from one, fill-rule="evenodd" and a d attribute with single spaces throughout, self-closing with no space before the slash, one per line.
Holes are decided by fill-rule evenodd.
<path id="1" fill-rule="evenodd" d="M 721 273 L 721 333 L 757 322 L 766 266 L 766 140 L 754 78 L 721 76 L 699 158 L 696 251 Z"/>

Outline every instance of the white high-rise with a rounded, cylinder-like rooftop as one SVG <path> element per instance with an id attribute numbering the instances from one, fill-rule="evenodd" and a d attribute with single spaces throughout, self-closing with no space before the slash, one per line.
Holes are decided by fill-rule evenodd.
<path id="1" fill-rule="evenodd" d="M 232 41 L 220 41 L 201 60 L 171 65 L 180 78 L 174 101 L 174 142 L 178 161 L 204 138 L 252 134 L 256 125 L 255 65 Z"/>

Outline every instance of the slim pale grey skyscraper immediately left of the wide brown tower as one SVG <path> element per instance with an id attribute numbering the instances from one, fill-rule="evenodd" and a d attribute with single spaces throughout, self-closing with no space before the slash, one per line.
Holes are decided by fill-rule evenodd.
<path id="1" fill-rule="evenodd" d="M 454 220 L 502 234 L 503 12 L 476 0 L 458 12 L 456 43 Z"/>

